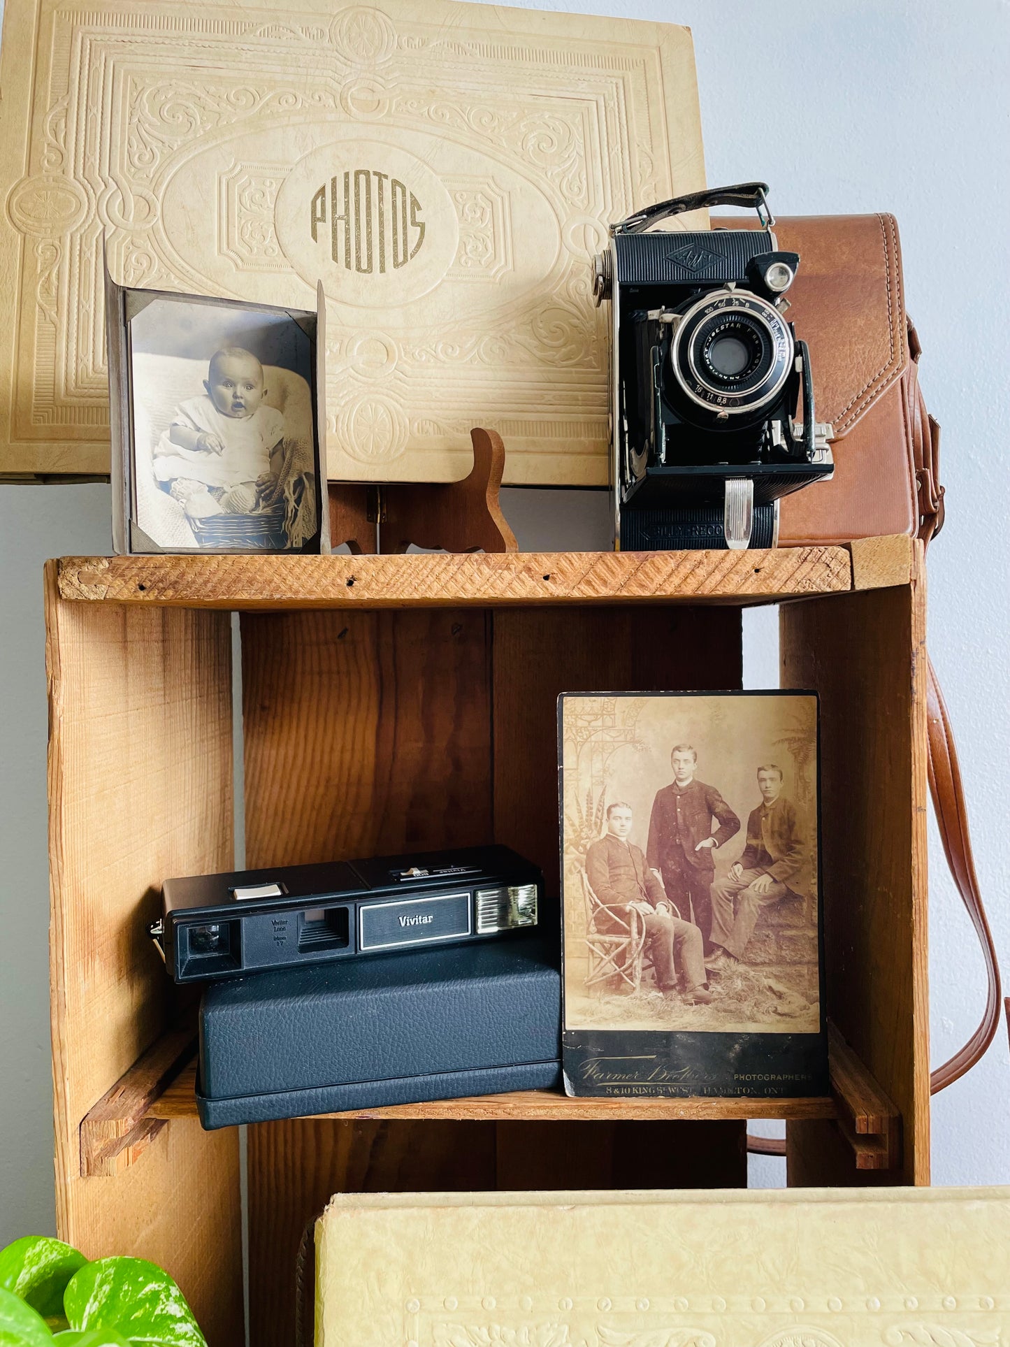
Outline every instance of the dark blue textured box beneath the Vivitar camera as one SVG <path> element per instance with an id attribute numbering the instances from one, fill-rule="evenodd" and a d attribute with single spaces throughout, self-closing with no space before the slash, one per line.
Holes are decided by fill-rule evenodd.
<path id="1" fill-rule="evenodd" d="M 539 932 L 218 982 L 205 1127 L 560 1084 L 560 952 Z"/>

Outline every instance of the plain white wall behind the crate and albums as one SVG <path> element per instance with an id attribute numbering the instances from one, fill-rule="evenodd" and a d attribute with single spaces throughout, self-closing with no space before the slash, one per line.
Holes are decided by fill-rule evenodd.
<path id="1" fill-rule="evenodd" d="M 1006 0 L 564 0 L 539 8 L 694 28 L 711 183 L 762 178 L 778 214 L 883 209 L 898 217 L 922 384 L 944 427 L 948 523 L 929 556 L 929 644 L 1010 974 L 1010 8 Z M 0 486 L 0 1245 L 54 1228 L 42 562 L 106 552 L 109 509 L 101 485 Z M 606 546 L 602 496 L 513 490 L 505 511 L 525 548 Z M 749 686 L 774 686 L 772 616 L 749 617 L 747 636 Z M 931 866 L 940 1061 L 974 1028 L 983 983 L 935 832 Z M 751 1181 L 773 1184 L 781 1169 L 781 1161 L 751 1161 Z M 933 1177 L 1010 1181 L 1005 1034 L 936 1099 Z"/>

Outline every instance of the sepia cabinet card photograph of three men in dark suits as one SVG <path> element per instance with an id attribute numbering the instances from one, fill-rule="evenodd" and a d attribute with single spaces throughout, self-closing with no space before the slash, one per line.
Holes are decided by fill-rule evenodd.
<path id="1" fill-rule="evenodd" d="M 815 692 L 559 698 L 568 1094 L 827 1087 Z"/>

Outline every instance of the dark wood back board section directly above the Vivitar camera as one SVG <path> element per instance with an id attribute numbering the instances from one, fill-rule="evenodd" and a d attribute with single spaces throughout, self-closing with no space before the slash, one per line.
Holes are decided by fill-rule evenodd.
<path id="1" fill-rule="evenodd" d="M 487 841 L 487 614 L 244 616 L 241 629 L 250 867 Z"/>

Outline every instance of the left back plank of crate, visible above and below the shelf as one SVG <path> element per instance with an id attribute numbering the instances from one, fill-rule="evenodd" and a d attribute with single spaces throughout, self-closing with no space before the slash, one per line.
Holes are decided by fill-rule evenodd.
<path id="1" fill-rule="evenodd" d="M 487 841 L 489 614 L 250 614 L 241 630 L 248 865 Z M 252 1342 L 288 1347 L 298 1245 L 329 1196 L 494 1187 L 494 1127 L 260 1125 L 248 1180 Z"/>

